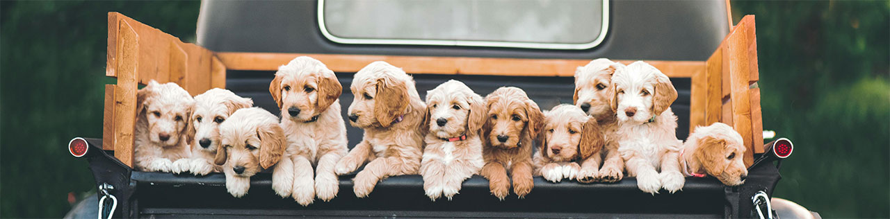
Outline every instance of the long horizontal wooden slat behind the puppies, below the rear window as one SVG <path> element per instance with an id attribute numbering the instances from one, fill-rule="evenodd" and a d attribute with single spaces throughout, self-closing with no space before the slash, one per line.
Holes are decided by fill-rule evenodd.
<path id="1" fill-rule="evenodd" d="M 476 74 L 510 76 L 573 76 L 575 68 L 587 65 L 590 59 L 506 59 L 472 57 L 381 56 L 303 53 L 215 53 L 227 69 L 275 71 L 298 56 L 319 59 L 335 72 L 358 72 L 374 61 L 386 61 L 409 74 Z M 619 60 L 630 64 L 631 60 Z M 669 77 L 692 77 L 704 70 L 702 61 L 647 61 Z"/>

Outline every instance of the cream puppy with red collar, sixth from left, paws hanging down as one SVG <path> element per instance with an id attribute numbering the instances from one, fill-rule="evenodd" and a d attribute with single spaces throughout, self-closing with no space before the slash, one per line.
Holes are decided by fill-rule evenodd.
<path id="1" fill-rule="evenodd" d="M 481 96 L 454 80 L 427 91 L 426 107 L 429 133 L 420 161 L 424 191 L 433 201 L 442 195 L 451 200 L 460 184 L 485 164 L 479 129 L 488 109 Z"/>

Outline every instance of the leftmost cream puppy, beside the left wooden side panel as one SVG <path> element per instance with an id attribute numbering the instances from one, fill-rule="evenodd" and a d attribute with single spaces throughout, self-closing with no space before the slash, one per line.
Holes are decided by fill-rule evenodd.
<path id="1" fill-rule="evenodd" d="M 170 172 L 190 157 L 189 118 L 195 100 L 174 82 L 151 80 L 136 92 L 135 162 L 139 171 Z"/>

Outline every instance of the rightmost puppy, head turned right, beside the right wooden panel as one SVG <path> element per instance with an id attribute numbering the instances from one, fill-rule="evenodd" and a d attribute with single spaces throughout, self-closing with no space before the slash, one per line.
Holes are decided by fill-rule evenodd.
<path id="1" fill-rule="evenodd" d="M 696 127 L 686 138 L 680 151 L 680 166 L 684 176 L 715 176 L 725 185 L 745 183 L 748 168 L 742 160 L 748 148 L 741 135 L 724 123 Z"/>

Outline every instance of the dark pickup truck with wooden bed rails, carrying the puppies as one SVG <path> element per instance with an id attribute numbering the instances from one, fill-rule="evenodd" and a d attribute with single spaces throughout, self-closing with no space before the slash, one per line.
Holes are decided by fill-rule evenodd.
<path id="1" fill-rule="evenodd" d="M 100 214 L 115 217 L 773 217 L 769 199 L 791 143 L 764 142 L 755 19 L 733 25 L 729 7 L 728 1 L 208 0 L 197 43 L 109 12 L 106 75 L 117 84 L 106 85 L 103 135 L 72 139 L 69 151 L 89 161 Z M 542 109 L 572 102 L 574 69 L 591 59 L 646 60 L 679 93 L 671 106 L 677 137 L 685 139 L 695 126 L 730 124 L 748 147 L 748 179 L 730 187 L 713 177 L 687 178 L 682 192 L 651 195 L 633 177 L 554 184 L 538 176 L 525 199 L 498 200 L 485 178 L 473 176 L 455 199 L 433 202 L 420 176 L 389 177 L 365 199 L 352 194 L 352 176 L 341 176 L 335 199 L 302 207 L 275 195 L 268 173 L 254 176 L 248 195 L 237 199 L 226 192 L 222 173 L 132 168 L 140 84 L 177 82 L 192 95 L 224 88 L 277 114 L 268 84 L 278 66 L 302 55 L 336 72 L 344 108 L 352 100 L 352 74 L 376 60 L 412 74 L 421 97 L 456 79 L 483 95 L 522 88 Z M 352 147 L 362 130 L 347 129 Z"/>

